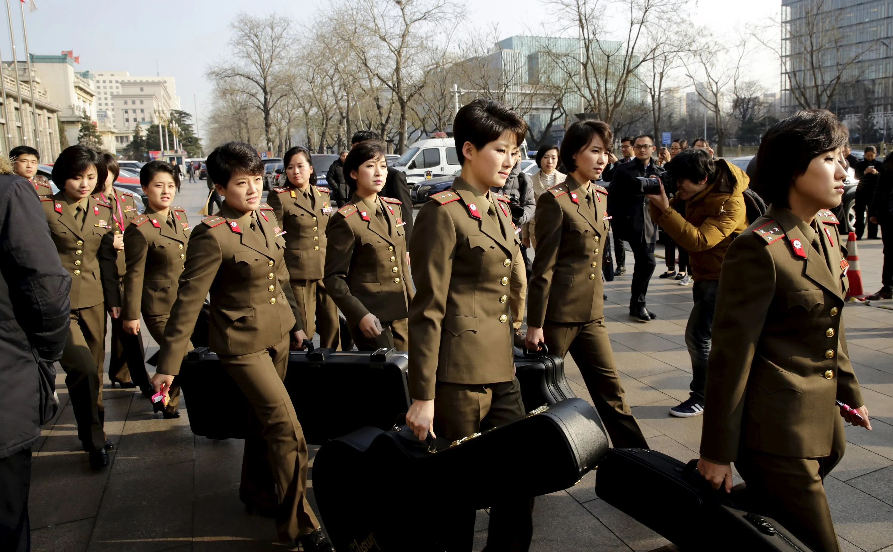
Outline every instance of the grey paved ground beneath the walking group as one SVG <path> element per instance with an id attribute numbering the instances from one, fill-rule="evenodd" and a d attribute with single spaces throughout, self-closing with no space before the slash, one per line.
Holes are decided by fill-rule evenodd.
<path id="1" fill-rule="evenodd" d="M 206 194 L 204 181 L 184 184 L 178 203 L 187 206 L 194 223 L 201 217 L 192 213 Z M 880 249 L 880 240 L 859 243 L 866 292 L 880 287 Z M 658 262 L 648 292 L 648 307 L 658 319 L 641 324 L 627 316 L 631 264 L 629 274 L 606 284 L 605 315 L 627 400 L 648 443 L 688 461 L 697 457 L 701 418 L 673 418 L 667 410 L 689 394 L 684 332 L 691 287 L 659 280 L 663 263 Z M 844 316 L 874 430 L 847 429 L 846 457 L 826 479 L 826 488 L 844 552 L 893 552 L 893 310 L 851 304 Z M 151 354 L 157 345 L 147 344 Z M 566 371 L 574 391 L 588 400 L 570 357 Z M 106 376 L 105 426 L 115 449 L 111 465 L 94 473 L 79 448 L 63 380 L 60 375 L 63 408 L 35 447 L 29 505 L 34 550 L 288 549 L 274 542 L 272 520 L 246 515 L 238 500 L 242 441 L 194 436 L 188 397 L 184 416 L 163 420 L 138 393 L 110 389 Z M 593 473 L 572 489 L 538 498 L 531 550 L 638 552 L 668 545 L 597 498 L 594 488 Z M 486 523 L 487 513 L 479 512 L 475 550 L 484 546 Z"/>

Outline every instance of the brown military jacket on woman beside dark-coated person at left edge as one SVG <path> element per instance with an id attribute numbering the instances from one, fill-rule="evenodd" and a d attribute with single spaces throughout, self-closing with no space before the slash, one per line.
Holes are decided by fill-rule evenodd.
<path id="1" fill-rule="evenodd" d="M 64 192 L 42 196 L 40 204 L 62 266 L 71 274 L 71 309 L 102 302 L 106 309 L 120 307 L 111 205 L 97 195 L 89 196 L 83 203 L 87 218 L 81 226 L 74 219 L 76 203 Z"/>

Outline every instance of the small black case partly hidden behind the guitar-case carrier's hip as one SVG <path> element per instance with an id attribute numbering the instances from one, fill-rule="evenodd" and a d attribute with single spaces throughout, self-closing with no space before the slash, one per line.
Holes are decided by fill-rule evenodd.
<path id="1" fill-rule="evenodd" d="M 545 343 L 542 350 L 514 349 L 515 377 L 521 384 L 524 409 L 530 412 L 577 395 L 564 377 L 564 359 L 550 355 Z"/>

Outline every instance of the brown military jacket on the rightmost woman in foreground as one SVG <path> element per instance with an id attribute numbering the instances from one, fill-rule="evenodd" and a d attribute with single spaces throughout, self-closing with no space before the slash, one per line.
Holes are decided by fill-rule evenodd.
<path id="1" fill-rule="evenodd" d="M 830 454 L 834 400 L 864 404 L 844 334 L 846 258 L 828 210 L 810 227 L 771 208 L 732 242 L 707 367 L 704 457 L 733 462 L 739 442 L 786 457 Z"/>

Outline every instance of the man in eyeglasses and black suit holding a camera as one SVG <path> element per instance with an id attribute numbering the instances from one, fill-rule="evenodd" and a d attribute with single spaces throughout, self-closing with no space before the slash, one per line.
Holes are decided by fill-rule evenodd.
<path id="1" fill-rule="evenodd" d="M 647 322 L 656 316 L 646 308 L 648 281 L 655 272 L 655 241 L 657 231 L 648 214 L 648 198 L 637 177 L 661 177 L 663 169 L 652 155 L 655 139 L 650 135 L 636 136 L 633 142 L 635 157 L 616 167 L 608 188 L 611 200 L 611 227 L 618 239 L 629 242 L 636 266 L 632 271 L 630 317 Z"/>

